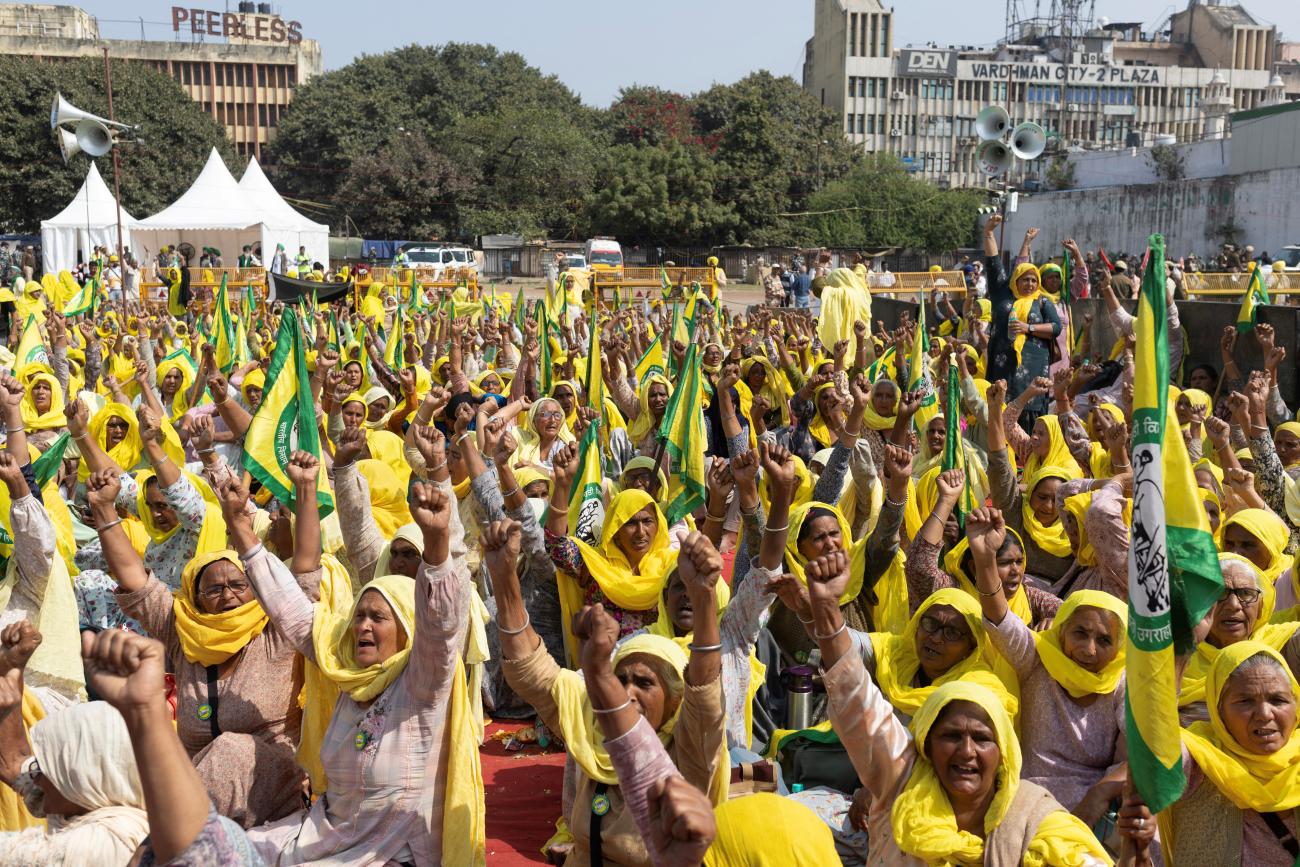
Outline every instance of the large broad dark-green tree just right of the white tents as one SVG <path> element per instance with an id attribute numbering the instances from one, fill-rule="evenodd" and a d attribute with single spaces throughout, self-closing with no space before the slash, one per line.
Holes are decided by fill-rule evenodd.
<path id="1" fill-rule="evenodd" d="M 365 157 L 408 131 L 456 164 L 462 178 L 474 179 L 468 188 L 450 185 L 451 198 L 434 220 L 455 237 L 550 227 L 552 217 L 572 225 L 585 194 L 575 178 L 590 174 L 594 155 L 586 148 L 598 138 L 597 112 L 554 75 L 514 52 L 451 43 L 360 57 L 307 82 L 281 118 L 269 156 L 290 195 L 334 204 L 361 231 L 384 234 L 391 231 L 387 218 L 372 226 L 356 216 L 355 195 L 365 187 L 350 174 L 382 169 Z M 547 175 L 555 173 L 552 183 Z M 374 190 L 393 194 L 391 186 Z M 554 211 L 558 200 L 567 213 Z"/>

